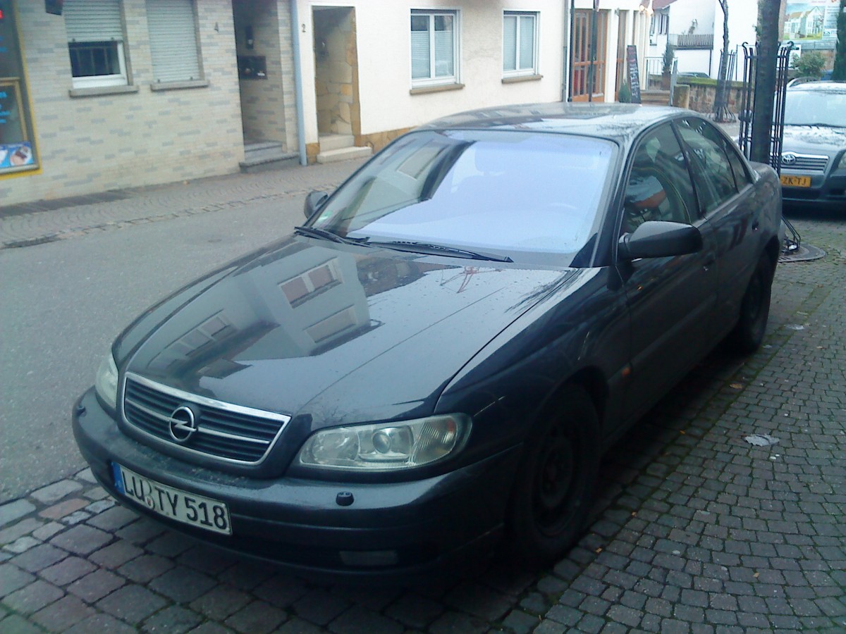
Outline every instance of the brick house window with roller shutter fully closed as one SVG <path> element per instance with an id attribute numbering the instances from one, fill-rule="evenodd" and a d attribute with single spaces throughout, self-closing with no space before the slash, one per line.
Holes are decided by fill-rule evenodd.
<path id="1" fill-rule="evenodd" d="M 146 0 L 153 80 L 202 79 L 193 0 Z"/>

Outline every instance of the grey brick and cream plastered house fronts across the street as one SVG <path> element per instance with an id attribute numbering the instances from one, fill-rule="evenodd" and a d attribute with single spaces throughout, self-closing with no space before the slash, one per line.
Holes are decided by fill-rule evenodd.
<path id="1" fill-rule="evenodd" d="M 648 5 L 0 0 L 0 205 L 237 172 L 254 150 L 369 153 L 477 107 L 613 101 Z"/>

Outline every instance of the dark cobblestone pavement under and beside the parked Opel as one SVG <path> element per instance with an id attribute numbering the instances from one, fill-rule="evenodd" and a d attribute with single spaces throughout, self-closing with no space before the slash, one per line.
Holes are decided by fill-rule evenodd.
<path id="1" fill-rule="evenodd" d="M 178 209 L 212 204 L 186 194 Z M 43 235 L 55 213 L 67 237 L 103 212 L 4 220 Z M 26 221 L 0 238 L 38 238 Z M 589 531 L 548 570 L 309 582 L 158 527 L 85 470 L 0 506 L 0 631 L 846 632 L 846 221 L 794 223 L 827 255 L 779 267 L 764 347 L 713 353 L 640 421 L 603 463 Z"/>

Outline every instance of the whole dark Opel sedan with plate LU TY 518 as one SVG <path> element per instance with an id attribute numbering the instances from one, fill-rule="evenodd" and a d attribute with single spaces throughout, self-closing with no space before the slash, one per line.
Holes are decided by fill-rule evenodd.
<path id="1" fill-rule="evenodd" d="M 416 129 L 305 211 L 129 325 L 74 433 L 169 527 L 379 576 L 562 555 L 602 451 L 760 345 L 781 199 L 694 112 L 549 104 Z"/>

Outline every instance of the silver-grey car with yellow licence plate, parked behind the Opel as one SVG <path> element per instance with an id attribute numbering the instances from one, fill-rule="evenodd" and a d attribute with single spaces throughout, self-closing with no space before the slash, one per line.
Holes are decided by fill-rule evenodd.
<path id="1" fill-rule="evenodd" d="M 846 212 L 846 83 L 788 88 L 781 163 L 785 203 Z"/>

